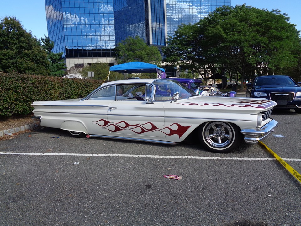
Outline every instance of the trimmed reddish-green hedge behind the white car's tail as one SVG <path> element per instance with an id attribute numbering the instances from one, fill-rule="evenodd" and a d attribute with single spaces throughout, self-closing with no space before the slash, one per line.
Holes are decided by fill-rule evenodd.
<path id="1" fill-rule="evenodd" d="M 101 84 L 94 79 L 0 73 L 0 117 L 27 115 L 34 101 L 85 97 Z"/>

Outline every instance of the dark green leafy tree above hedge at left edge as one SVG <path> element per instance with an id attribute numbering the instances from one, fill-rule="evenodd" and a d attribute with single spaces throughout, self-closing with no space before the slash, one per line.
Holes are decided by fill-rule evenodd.
<path id="1" fill-rule="evenodd" d="M 48 74 L 49 61 L 40 41 L 26 32 L 15 17 L 0 20 L 0 71 Z"/>

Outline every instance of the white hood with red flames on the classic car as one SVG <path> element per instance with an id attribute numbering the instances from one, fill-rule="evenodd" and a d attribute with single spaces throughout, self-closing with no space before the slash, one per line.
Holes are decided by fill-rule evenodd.
<path id="1" fill-rule="evenodd" d="M 265 98 L 240 98 L 240 97 L 214 97 L 214 96 L 196 96 L 190 99 L 179 100 L 176 103 L 182 105 L 198 105 L 210 109 L 219 110 L 269 110 L 277 105 L 272 100 Z"/>

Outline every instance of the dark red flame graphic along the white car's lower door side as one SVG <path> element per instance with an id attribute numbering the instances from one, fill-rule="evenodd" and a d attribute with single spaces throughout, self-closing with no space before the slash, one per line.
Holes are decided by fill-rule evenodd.
<path id="1" fill-rule="evenodd" d="M 137 134 L 142 134 L 145 132 L 155 132 L 155 131 L 160 131 L 164 134 L 166 134 L 167 136 L 172 136 L 174 134 L 178 135 L 179 138 L 182 137 L 182 135 L 189 129 L 190 126 L 182 126 L 179 123 L 173 123 L 170 126 L 166 126 L 163 128 L 158 128 L 157 126 L 155 126 L 153 123 L 151 122 L 146 122 L 144 124 L 134 124 L 131 125 L 129 123 L 127 123 L 126 121 L 120 121 L 120 122 L 110 122 L 104 119 L 100 119 L 98 121 L 93 122 L 95 124 L 97 124 L 98 126 L 101 126 L 107 130 L 109 130 L 110 132 L 118 132 L 118 131 L 123 131 L 123 130 L 130 130 L 133 131 Z M 150 125 L 150 128 L 148 128 L 149 126 L 146 125 Z M 176 125 L 177 129 L 172 129 L 171 126 Z M 114 129 L 109 129 L 109 126 L 114 126 Z M 141 131 L 138 132 L 135 129 L 139 128 Z M 169 133 L 164 132 L 165 129 L 169 130 Z"/>

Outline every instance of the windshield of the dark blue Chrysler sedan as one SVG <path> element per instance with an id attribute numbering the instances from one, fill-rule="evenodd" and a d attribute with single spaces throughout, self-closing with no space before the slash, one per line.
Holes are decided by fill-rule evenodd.
<path id="1" fill-rule="evenodd" d="M 254 83 L 255 86 L 291 86 L 296 85 L 293 79 L 286 76 L 269 76 L 257 77 Z"/>

